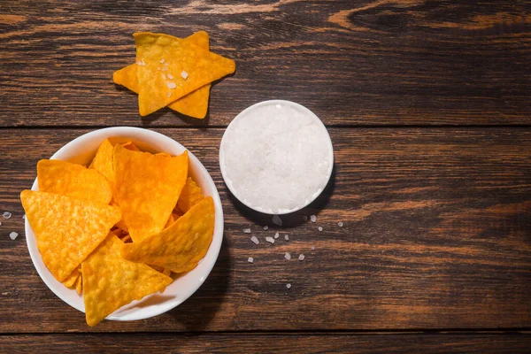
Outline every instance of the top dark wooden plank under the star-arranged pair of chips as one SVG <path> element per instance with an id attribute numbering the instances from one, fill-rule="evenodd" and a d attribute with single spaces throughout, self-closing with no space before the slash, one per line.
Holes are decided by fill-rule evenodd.
<path id="1" fill-rule="evenodd" d="M 1 126 L 225 126 L 266 99 L 328 125 L 530 124 L 526 1 L 7 0 L 0 4 Z M 237 73 L 207 120 L 140 119 L 112 83 L 132 34 L 206 30 Z"/>

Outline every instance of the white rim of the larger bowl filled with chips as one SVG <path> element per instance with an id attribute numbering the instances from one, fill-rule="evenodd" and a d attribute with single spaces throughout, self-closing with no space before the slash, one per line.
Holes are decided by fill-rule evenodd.
<path id="1" fill-rule="evenodd" d="M 101 142 L 104 141 L 106 138 L 122 138 L 127 139 L 135 142 L 135 139 L 137 142 L 143 142 L 146 145 L 152 146 L 154 143 L 148 142 L 148 141 L 157 141 L 161 144 L 167 145 L 169 147 L 172 147 L 171 150 L 180 150 L 182 153 L 186 149 L 180 142 L 177 142 L 170 138 L 167 135 L 163 135 L 161 133 L 158 133 L 156 131 L 152 131 L 150 129 L 144 129 L 140 127 L 106 127 L 102 129 L 96 129 L 93 131 L 90 131 L 89 133 L 86 133 L 84 135 L 80 135 L 76 138 L 74 138 L 72 141 L 67 142 L 65 145 L 63 145 L 59 150 L 57 150 L 50 159 L 66 159 L 68 160 L 68 153 L 70 150 L 77 149 L 76 147 L 79 145 L 86 144 L 87 142 L 94 142 L 98 141 L 96 145 L 99 146 Z M 160 151 L 160 152 L 167 152 L 167 151 Z M 96 150 L 94 150 L 94 153 L 96 154 Z M 215 210 L 215 221 L 214 221 L 214 235 L 212 236 L 212 242 L 207 250 L 207 253 L 205 254 L 204 258 L 199 262 L 199 264 L 189 273 L 185 273 L 184 275 L 181 275 L 177 278 L 173 278 L 173 283 L 175 281 L 179 281 L 181 277 L 187 277 L 187 281 L 189 281 L 191 278 L 192 286 L 190 286 L 188 289 L 184 289 L 181 291 L 178 296 L 174 296 L 172 301 L 166 301 L 160 304 L 154 304 L 149 305 L 146 307 L 143 307 L 143 309 L 146 309 L 149 307 L 149 310 L 152 311 L 142 311 L 142 307 L 139 307 L 139 310 L 135 311 L 136 304 L 142 304 L 142 303 L 148 303 L 151 296 L 160 296 L 161 294 L 159 292 L 150 294 L 148 296 L 144 296 L 140 301 L 133 301 L 130 304 L 122 306 L 119 310 L 116 312 L 112 312 L 106 319 L 112 319 L 112 320 L 137 320 L 137 319 L 149 319 L 154 316 L 158 316 L 161 313 L 168 312 L 172 310 L 173 308 L 177 307 L 178 305 L 182 304 L 184 301 L 186 301 L 190 296 L 192 296 L 197 289 L 201 287 L 201 285 L 204 283 L 208 275 L 212 272 L 212 268 L 215 265 L 218 257 L 219 257 L 219 250 L 221 249 L 221 243 L 223 241 L 223 234 L 224 234 L 224 222 L 223 222 L 223 208 L 221 205 L 221 200 L 219 198 L 219 192 L 216 188 L 216 184 L 212 180 L 212 176 L 204 165 L 199 161 L 198 158 L 190 151 L 189 153 L 189 165 L 190 167 L 193 165 L 193 170 L 195 171 L 196 175 L 202 176 L 203 185 L 206 183 L 208 185 L 208 189 L 210 195 L 212 196 L 212 199 L 214 201 L 214 210 Z M 174 154 L 172 152 L 172 154 Z M 79 156 L 79 155 L 78 155 Z M 35 181 L 32 185 L 32 190 L 38 190 L 38 181 L 37 178 L 35 178 Z M 203 188 L 204 189 L 204 188 Z M 46 284 L 46 286 L 61 300 L 63 300 L 66 304 L 69 304 L 74 309 L 85 312 L 84 310 L 84 303 L 82 296 L 79 296 L 81 299 L 81 305 L 79 304 L 79 301 L 73 304 L 72 299 L 67 297 L 66 294 L 71 294 L 74 292 L 76 295 L 75 289 L 68 289 L 60 283 L 53 275 L 51 275 L 50 271 L 46 266 L 43 266 L 42 263 L 42 256 L 40 251 L 37 248 L 36 245 L 36 238 L 35 233 L 33 232 L 33 229 L 29 225 L 29 222 L 27 221 L 27 218 L 25 218 L 24 221 L 24 228 L 25 228 L 25 234 L 26 234 L 26 242 L 27 242 L 27 248 L 30 255 L 30 258 L 35 266 L 35 270 L 41 277 L 42 281 Z M 38 262 L 41 262 L 42 265 L 38 264 Z M 196 273 L 196 274 L 195 274 Z M 51 277 L 50 277 L 51 275 Z M 191 277 L 190 275 L 195 275 L 194 277 Z M 173 284 L 172 283 L 172 284 Z M 168 287 L 171 287 L 172 284 L 170 284 Z M 59 287 L 59 286 L 60 287 Z M 166 288 L 167 289 L 167 288 Z M 66 292 L 67 290 L 68 292 Z M 166 292 L 163 293 L 163 295 L 167 294 Z M 148 301 L 146 301 L 148 300 Z M 118 313 L 122 309 L 128 308 L 129 312 L 124 313 Z M 136 315 L 135 315 L 136 313 Z"/>

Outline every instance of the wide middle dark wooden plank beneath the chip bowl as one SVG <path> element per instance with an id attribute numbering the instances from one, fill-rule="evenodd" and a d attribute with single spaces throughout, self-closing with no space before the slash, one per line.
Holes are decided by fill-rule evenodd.
<path id="1" fill-rule="evenodd" d="M 224 242 L 203 287 L 156 318 L 87 327 L 35 272 L 19 204 L 37 160 L 87 130 L 0 129 L 0 211 L 13 213 L 0 227 L 0 333 L 531 327 L 531 129 L 330 128 L 334 180 L 281 229 L 228 194 L 224 129 L 159 131 L 196 154 L 223 201 Z M 289 242 L 264 242 L 277 230 Z"/>

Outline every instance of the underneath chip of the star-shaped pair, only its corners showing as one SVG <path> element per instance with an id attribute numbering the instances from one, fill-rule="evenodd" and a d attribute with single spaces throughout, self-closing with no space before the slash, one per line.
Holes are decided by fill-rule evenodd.
<path id="1" fill-rule="evenodd" d="M 176 37 L 175 37 L 176 38 Z M 191 44 L 209 50 L 209 38 L 208 34 L 204 31 L 196 32 L 193 35 L 185 38 L 183 41 L 187 41 Z M 119 69 L 112 74 L 112 80 L 127 89 L 138 93 L 138 79 L 136 77 L 136 68 L 138 65 L 131 64 Z M 164 70 L 165 75 L 169 69 L 165 69 L 165 66 L 161 67 Z M 174 75 L 173 75 L 174 76 Z M 181 112 L 190 117 L 203 119 L 208 111 L 208 97 L 210 96 L 211 84 L 204 85 L 203 87 L 190 92 L 189 95 L 181 97 L 177 101 L 168 104 L 168 107 L 176 112 Z"/>

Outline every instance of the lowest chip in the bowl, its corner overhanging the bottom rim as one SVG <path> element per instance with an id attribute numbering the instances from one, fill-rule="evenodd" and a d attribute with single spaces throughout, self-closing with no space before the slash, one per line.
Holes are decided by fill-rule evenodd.
<path id="1" fill-rule="evenodd" d="M 90 327 L 133 300 L 163 291 L 173 281 L 150 266 L 121 258 L 122 245 L 116 235 L 110 234 L 81 264 L 85 313 Z"/>

